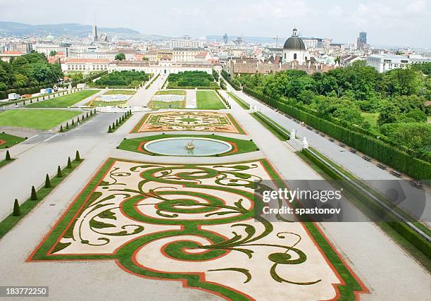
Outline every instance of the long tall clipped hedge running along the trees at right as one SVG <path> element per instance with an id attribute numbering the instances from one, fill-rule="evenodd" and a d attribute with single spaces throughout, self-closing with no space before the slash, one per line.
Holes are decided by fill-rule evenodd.
<path id="1" fill-rule="evenodd" d="M 277 99 L 266 97 L 248 87 L 244 87 L 243 91 L 256 99 L 273 106 L 275 109 L 279 109 L 283 113 L 287 113 L 287 115 L 292 116 L 299 121 L 304 121 L 304 123 L 311 125 L 313 128 L 334 137 L 354 149 L 357 149 L 359 152 L 362 152 L 367 156 L 371 156 L 398 171 L 406 173 L 406 175 L 411 176 L 412 178 L 416 178 L 418 180 L 430 180 L 431 178 L 431 164 L 427 161 L 417 159 L 392 145 L 382 142 L 381 140 L 377 140 L 375 137 L 370 137 L 369 135 L 344 128 L 341 125 L 319 118 L 312 113 L 302 111 L 289 104 L 283 104 L 282 102 L 277 101 Z"/>

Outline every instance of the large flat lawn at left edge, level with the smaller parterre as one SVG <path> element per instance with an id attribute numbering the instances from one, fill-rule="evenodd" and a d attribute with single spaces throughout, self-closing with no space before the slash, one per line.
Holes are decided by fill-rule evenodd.
<path id="1" fill-rule="evenodd" d="M 0 126 L 50 130 L 81 113 L 82 111 L 9 110 L 0 113 Z"/>

